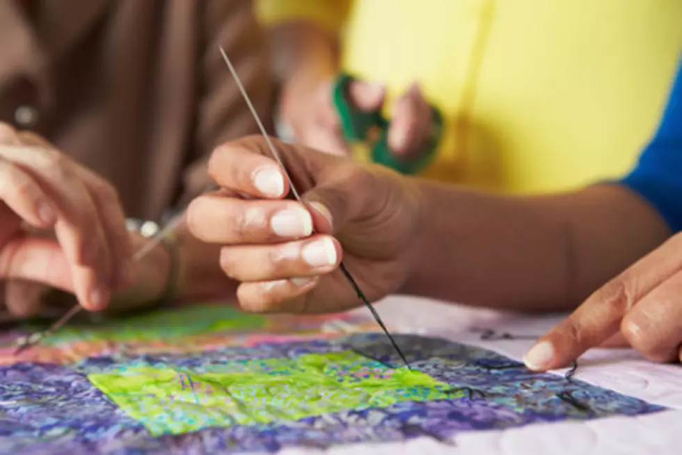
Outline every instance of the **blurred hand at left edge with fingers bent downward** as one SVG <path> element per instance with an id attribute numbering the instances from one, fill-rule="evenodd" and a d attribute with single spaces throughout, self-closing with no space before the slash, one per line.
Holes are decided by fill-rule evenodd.
<path id="1" fill-rule="evenodd" d="M 61 288 L 86 309 L 103 309 L 127 281 L 129 256 L 116 190 L 43 139 L 0 123 L 0 279 Z M 15 313 L 33 311 L 13 301 Z"/>

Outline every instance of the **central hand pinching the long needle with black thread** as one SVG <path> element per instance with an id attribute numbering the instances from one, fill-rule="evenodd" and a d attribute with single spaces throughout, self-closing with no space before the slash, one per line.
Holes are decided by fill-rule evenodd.
<path id="1" fill-rule="evenodd" d="M 397 291 L 415 254 L 419 207 L 412 181 L 383 167 L 275 144 L 309 206 L 284 199 L 285 174 L 268 157 L 264 139 L 248 137 L 214 151 L 209 172 L 222 190 L 195 199 L 187 214 L 193 235 L 224 245 L 221 268 L 241 283 L 241 307 L 321 313 L 360 304 L 338 270 L 342 256 L 370 300 Z"/>

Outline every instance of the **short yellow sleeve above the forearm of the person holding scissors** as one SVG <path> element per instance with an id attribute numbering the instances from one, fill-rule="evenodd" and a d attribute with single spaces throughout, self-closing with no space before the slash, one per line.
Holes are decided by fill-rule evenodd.
<path id="1" fill-rule="evenodd" d="M 326 31 L 338 33 L 351 0 L 254 0 L 258 19 L 265 26 L 285 22 L 313 22 Z"/>

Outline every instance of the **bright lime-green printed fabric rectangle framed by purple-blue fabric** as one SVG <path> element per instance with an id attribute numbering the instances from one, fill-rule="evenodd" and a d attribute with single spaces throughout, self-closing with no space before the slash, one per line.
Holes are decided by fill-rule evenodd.
<path id="1" fill-rule="evenodd" d="M 226 362 L 198 373 L 135 364 L 88 379 L 152 435 L 267 424 L 401 401 L 456 398 L 425 373 L 353 352 Z"/>

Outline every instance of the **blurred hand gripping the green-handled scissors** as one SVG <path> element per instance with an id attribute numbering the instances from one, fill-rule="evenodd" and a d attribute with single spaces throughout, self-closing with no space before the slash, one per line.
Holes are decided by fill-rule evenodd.
<path id="1" fill-rule="evenodd" d="M 340 118 L 333 104 L 332 79 L 292 79 L 285 86 L 281 112 L 294 130 L 296 141 L 332 155 L 348 155 L 342 137 Z M 314 87 L 311 88 L 310 87 Z M 349 87 L 350 102 L 363 111 L 381 109 L 386 88 L 381 84 L 354 81 Z M 418 158 L 433 131 L 431 107 L 417 84 L 395 102 L 391 109 L 388 146 L 406 160 Z"/>

